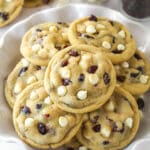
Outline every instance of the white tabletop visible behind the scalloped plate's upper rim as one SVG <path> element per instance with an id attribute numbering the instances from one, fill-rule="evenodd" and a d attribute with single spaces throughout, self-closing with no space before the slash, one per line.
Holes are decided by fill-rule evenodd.
<path id="1" fill-rule="evenodd" d="M 14 20 L 13 23 L 11 23 L 10 25 L 8 25 L 6 27 L 0 28 L 0 37 L 10 27 L 12 27 L 14 24 L 16 24 L 17 22 L 19 22 L 19 21 L 27 18 L 28 16 L 32 15 L 33 13 L 41 11 L 41 10 L 44 10 L 44 9 L 47 9 L 47 8 L 51 8 L 51 7 L 60 7 L 60 4 L 58 4 L 58 1 L 61 1 L 61 2 L 64 2 L 64 3 L 67 3 L 67 2 L 71 2 L 71 3 L 83 2 L 83 3 L 86 3 L 88 0 L 52 0 L 52 2 L 50 2 L 49 5 L 45 5 L 45 6 L 41 6 L 41 7 L 36 7 L 36 8 L 23 8 L 22 13 L 19 15 L 19 17 L 16 20 Z M 103 2 L 101 5 L 105 6 L 105 7 L 112 8 L 114 10 L 120 11 L 119 1 L 120 0 L 107 0 L 106 2 Z M 100 4 L 100 3 L 98 2 L 98 4 Z M 143 24 L 145 27 L 150 27 L 150 21 L 140 22 L 140 23 Z"/>

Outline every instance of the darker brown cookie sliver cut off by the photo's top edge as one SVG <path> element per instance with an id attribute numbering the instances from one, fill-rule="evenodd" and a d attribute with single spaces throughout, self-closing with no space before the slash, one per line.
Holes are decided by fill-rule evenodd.
<path id="1" fill-rule="evenodd" d="M 24 7 L 37 7 L 43 4 L 48 4 L 50 0 L 24 0 Z"/>

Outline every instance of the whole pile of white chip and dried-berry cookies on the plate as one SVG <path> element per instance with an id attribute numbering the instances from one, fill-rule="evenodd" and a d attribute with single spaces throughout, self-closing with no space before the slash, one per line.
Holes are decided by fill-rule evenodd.
<path id="1" fill-rule="evenodd" d="M 23 37 L 5 82 L 18 136 L 49 149 L 116 150 L 135 137 L 150 64 L 119 22 L 91 15 Z"/>

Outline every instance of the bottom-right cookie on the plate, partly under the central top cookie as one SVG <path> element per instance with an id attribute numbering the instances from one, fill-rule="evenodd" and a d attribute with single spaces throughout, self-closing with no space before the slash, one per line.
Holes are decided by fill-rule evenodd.
<path id="1" fill-rule="evenodd" d="M 139 122 L 140 115 L 134 97 L 116 87 L 105 105 L 88 113 L 77 138 L 91 150 L 123 149 L 135 137 Z"/>

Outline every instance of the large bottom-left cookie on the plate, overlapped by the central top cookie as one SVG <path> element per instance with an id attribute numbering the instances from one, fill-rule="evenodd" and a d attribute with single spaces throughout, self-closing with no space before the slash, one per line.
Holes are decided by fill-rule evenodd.
<path id="1" fill-rule="evenodd" d="M 49 149 L 68 143 L 79 130 L 82 116 L 58 108 L 52 103 L 43 83 L 37 82 L 18 97 L 13 122 L 24 142 L 35 148 Z"/>

